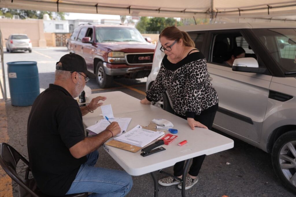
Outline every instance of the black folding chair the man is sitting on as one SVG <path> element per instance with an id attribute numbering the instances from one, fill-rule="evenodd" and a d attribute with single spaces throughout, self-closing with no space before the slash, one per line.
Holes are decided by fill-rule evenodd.
<path id="1" fill-rule="evenodd" d="M 22 180 L 16 171 L 17 163 L 22 160 L 28 167 L 26 168 L 25 180 Z M 42 193 L 34 180 L 29 179 L 29 162 L 19 152 L 7 143 L 0 143 L 0 164 L 4 171 L 14 180 L 19 186 L 19 196 L 21 197 L 49 197 Z M 86 197 L 88 193 L 77 193 L 65 195 L 65 197 Z"/>

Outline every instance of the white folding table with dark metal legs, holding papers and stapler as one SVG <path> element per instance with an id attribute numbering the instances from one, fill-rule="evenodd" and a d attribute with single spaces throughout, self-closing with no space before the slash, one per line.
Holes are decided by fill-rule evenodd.
<path id="1" fill-rule="evenodd" d="M 97 95 L 98 94 L 94 94 L 93 96 L 95 97 Z M 140 151 L 132 153 L 105 144 L 103 145 L 105 151 L 107 151 L 128 174 L 139 176 L 150 173 L 154 180 L 154 196 L 158 196 L 158 180 L 156 179 L 155 171 L 173 166 L 176 162 L 186 160 L 182 177 L 183 183 L 185 183 L 186 171 L 190 159 L 196 156 L 214 154 L 233 148 L 234 146 L 234 142 L 230 138 L 204 128 L 195 127 L 195 130 L 191 130 L 186 120 L 160 108 L 140 104 L 139 99 L 135 99 L 125 93 L 117 91 L 108 92 L 108 95 L 107 93 L 100 93 L 99 95 L 106 96 L 107 100 L 112 99 L 112 101 L 104 101 L 104 104 L 112 105 L 114 117 L 132 118 L 127 130 L 131 130 L 136 125 L 146 126 L 154 118 L 169 120 L 173 123 L 174 128 L 178 130 L 178 133 L 175 134 L 178 135 L 176 140 L 169 145 L 163 145 L 166 149 L 165 151 L 146 157 L 141 156 Z M 98 116 L 98 114 L 101 113 L 100 109 L 95 110 L 95 112 L 87 114 L 89 115 L 88 117 L 83 117 L 83 123 L 86 127 L 94 125 L 96 120 L 101 120 L 103 118 Z M 166 132 L 169 133 L 167 130 Z M 110 140 L 112 140 L 112 138 L 108 141 Z M 189 142 L 183 146 L 178 146 L 178 143 L 183 140 L 188 140 Z M 182 186 L 182 196 L 185 196 L 185 184 L 182 184 Z"/>

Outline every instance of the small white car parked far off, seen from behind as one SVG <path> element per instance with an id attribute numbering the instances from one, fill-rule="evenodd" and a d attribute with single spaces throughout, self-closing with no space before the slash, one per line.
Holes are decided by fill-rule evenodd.
<path id="1" fill-rule="evenodd" d="M 32 43 L 26 34 L 12 34 L 5 40 L 7 40 L 6 51 L 9 53 L 17 50 L 24 50 L 32 53 Z"/>

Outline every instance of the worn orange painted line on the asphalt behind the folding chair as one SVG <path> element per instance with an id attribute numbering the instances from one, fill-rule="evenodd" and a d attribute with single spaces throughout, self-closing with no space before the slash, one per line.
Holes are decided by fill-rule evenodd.
<path id="1" fill-rule="evenodd" d="M 0 142 L 8 143 L 7 133 L 7 114 L 5 110 L 5 101 L 0 101 Z M 12 197 L 12 181 L 6 172 L 0 168 L 0 196 Z"/>

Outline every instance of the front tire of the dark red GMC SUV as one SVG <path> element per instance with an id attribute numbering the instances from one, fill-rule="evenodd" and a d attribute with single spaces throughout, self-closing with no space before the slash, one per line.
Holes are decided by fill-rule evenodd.
<path id="1" fill-rule="evenodd" d="M 106 74 L 103 62 L 98 62 L 96 66 L 96 82 L 100 88 L 109 88 L 112 85 L 113 77 Z"/>

